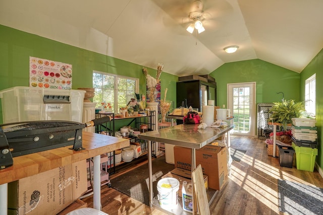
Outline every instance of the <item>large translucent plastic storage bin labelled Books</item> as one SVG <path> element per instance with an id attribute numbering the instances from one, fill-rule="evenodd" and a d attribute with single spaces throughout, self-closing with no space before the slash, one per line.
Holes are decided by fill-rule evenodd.
<path id="1" fill-rule="evenodd" d="M 82 122 L 83 90 L 14 87 L 0 91 L 3 122 L 65 120 Z"/>

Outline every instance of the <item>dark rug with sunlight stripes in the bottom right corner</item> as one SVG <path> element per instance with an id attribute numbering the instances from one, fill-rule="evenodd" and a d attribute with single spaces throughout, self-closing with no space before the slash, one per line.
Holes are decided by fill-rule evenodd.
<path id="1" fill-rule="evenodd" d="M 278 205 L 289 214 L 323 214 L 323 188 L 279 179 Z"/>

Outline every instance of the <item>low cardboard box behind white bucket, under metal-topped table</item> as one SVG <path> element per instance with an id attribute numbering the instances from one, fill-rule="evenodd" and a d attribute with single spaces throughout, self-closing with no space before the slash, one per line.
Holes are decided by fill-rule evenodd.
<path id="1" fill-rule="evenodd" d="M 178 168 L 175 168 L 171 172 L 168 172 L 166 175 L 161 176 L 161 178 L 167 178 L 167 177 L 176 178 L 180 182 L 180 187 L 179 187 L 179 190 L 178 190 L 178 196 L 179 197 L 182 197 L 182 184 L 183 184 L 183 181 L 187 181 L 187 183 L 192 182 L 191 172 L 187 171 L 187 170 L 178 169 Z M 205 187 L 205 190 L 207 190 L 208 189 L 207 175 L 203 175 L 203 178 L 204 178 L 204 187 Z"/>

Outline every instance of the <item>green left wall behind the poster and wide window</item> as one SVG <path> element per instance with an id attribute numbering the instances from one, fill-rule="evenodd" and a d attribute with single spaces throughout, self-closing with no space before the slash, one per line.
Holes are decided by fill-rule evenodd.
<path id="1" fill-rule="evenodd" d="M 146 78 L 142 73 L 142 65 L 3 25 L 0 25 L 0 90 L 15 86 L 29 86 L 29 56 L 72 64 L 72 89 L 92 87 L 92 72 L 97 70 L 139 78 L 139 93 L 146 93 Z M 147 70 L 152 77 L 156 76 L 156 69 L 147 68 Z M 160 79 L 161 98 L 164 98 L 165 88 L 168 88 L 167 99 L 176 102 L 178 77 L 164 70 Z M 0 114 L 0 123 L 2 123 L 2 114 Z"/>

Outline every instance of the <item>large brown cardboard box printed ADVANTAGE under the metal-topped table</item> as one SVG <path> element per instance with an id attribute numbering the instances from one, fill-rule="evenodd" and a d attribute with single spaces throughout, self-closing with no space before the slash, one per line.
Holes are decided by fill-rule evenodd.
<path id="1" fill-rule="evenodd" d="M 196 166 L 202 166 L 208 177 L 208 187 L 221 190 L 228 181 L 227 150 L 225 147 L 206 145 L 195 151 Z M 175 168 L 191 171 L 191 149 L 174 147 Z"/>

